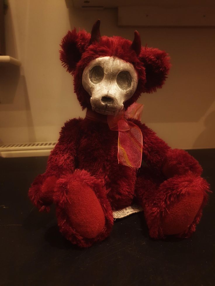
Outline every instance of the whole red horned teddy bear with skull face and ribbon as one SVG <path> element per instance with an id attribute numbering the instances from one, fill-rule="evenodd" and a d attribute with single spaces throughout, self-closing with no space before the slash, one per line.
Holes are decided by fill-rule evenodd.
<path id="1" fill-rule="evenodd" d="M 87 113 L 65 123 L 29 197 L 40 210 L 55 203 L 61 233 L 80 247 L 106 238 L 113 210 L 133 202 L 142 206 L 152 238 L 189 237 L 209 191 L 202 168 L 132 116 L 142 92 L 162 87 L 169 57 L 141 47 L 137 31 L 132 43 L 101 37 L 99 24 L 91 35 L 74 29 L 62 40 L 61 61 Z"/>

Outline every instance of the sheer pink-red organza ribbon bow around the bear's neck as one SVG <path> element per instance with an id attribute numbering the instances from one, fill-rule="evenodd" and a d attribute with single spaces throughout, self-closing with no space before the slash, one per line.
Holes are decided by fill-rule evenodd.
<path id="1" fill-rule="evenodd" d="M 142 111 L 143 105 L 135 102 L 126 111 L 122 110 L 116 116 L 107 116 L 110 130 L 119 132 L 118 163 L 134 169 L 138 169 L 141 166 L 143 136 L 140 127 L 127 119 L 141 120 Z M 87 110 L 86 117 L 99 120 L 99 116 L 96 116 L 95 113 L 89 110 Z"/>

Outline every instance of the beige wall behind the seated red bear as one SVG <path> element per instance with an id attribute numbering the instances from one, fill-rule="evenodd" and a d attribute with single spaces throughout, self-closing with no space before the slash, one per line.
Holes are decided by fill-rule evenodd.
<path id="1" fill-rule="evenodd" d="M 63 123 L 84 116 L 72 77 L 61 67 L 59 43 L 67 30 L 91 30 L 133 38 L 117 27 L 117 10 L 68 9 L 63 0 L 9 0 L 7 54 L 21 68 L 0 66 L 0 143 L 54 141 Z M 128 15 L 129 16 L 129 15 Z M 174 148 L 215 148 L 215 29 L 138 28 L 142 44 L 169 52 L 169 78 L 155 94 L 143 94 L 142 122 Z"/>

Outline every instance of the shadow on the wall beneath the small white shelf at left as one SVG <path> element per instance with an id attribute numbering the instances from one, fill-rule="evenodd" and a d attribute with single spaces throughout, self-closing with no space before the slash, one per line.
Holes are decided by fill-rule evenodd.
<path id="1" fill-rule="evenodd" d="M 6 127 L 8 130 L 11 128 L 12 132 L 15 132 L 16 128 L 19 132 L 19 128 L 27 127 L 29 141 L 35 141 L 25 76 L 20 74 L 20 67 L 12 65 L 1 66 L 0 75 L 0 127 Z M 16 137 L 20 138 L 20 134 Z M 17 140 L 22 141 L 21 138 Z"/>

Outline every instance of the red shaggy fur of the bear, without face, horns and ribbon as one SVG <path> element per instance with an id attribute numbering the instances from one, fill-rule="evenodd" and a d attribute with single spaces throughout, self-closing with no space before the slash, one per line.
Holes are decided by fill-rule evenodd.
<path id="1" fill-rule="evenodd" d="M 131 41 L 103 36 L 89 45 L 86 31 L 69 31 L 61 44 L 60 59 L 74 76 L 74 90 L 82 108 L 91 108 L 82 86 L 82 72 L 95 58 L 116 56 L 133 64 L 138 87 L 125 102 L 128 108 L 142 92 L 162 87 L 169 72 L 164 51 L 142 47 L 136 55 Z M 118 164 L 118 131 L 99 120 L 72 119 L 65 123 L 49 156 L 46 172 L 39 175 L 29 197 L 40 211 L 56 204 L 61 233 L 72 243 L 88 247 L 106 238 L 112 229 L 112 210 L 131 205 L 144 209 L 152 238 L 189 237 L 200 221 L 207 202 L 208 183 L 202 168 L 187 152 L 171 149 L 155 132 L 138 125 L 143 135 L 143 161 L 137 172 Z"/>

